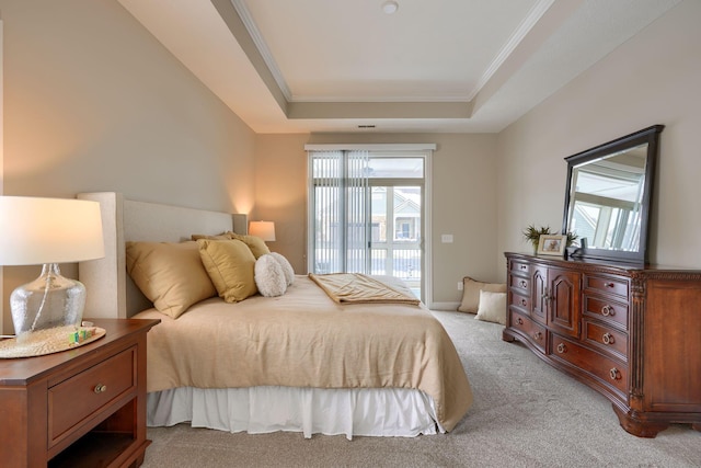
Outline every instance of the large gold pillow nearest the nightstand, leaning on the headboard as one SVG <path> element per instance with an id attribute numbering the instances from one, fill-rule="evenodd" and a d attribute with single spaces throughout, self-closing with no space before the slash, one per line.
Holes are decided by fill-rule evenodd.
<path id="1" fill-rule="evenodd" d="M 127 242 L 127 272 L 160 312 L 176 319 L 217 290 L 196 242 Z"/>

